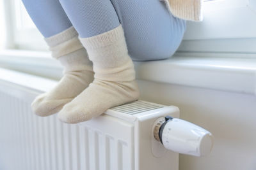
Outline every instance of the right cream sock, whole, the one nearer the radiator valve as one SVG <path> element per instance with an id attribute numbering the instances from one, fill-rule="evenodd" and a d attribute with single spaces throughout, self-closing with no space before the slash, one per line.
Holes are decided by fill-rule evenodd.
<path id="1" fill-rule="evenodd" d="M 136 101 L 139 97 L 122 25 L 80 41 L 93 62 L 95 79 L 58 113 L 58 118 L 69 124 L 90 120 L 108 108 Z"/>

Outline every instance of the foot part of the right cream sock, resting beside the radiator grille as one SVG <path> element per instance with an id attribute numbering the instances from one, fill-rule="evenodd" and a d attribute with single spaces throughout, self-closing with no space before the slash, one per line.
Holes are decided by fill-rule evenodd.
<path id="1" fill-rule="evenodd" d="M 61 122 L 76 124 L 98 117 L 104 111 L 136 101 L 139 89 L 136 81 L 115 82 L 95 79 L 79 96 L 58 113 Z"/>

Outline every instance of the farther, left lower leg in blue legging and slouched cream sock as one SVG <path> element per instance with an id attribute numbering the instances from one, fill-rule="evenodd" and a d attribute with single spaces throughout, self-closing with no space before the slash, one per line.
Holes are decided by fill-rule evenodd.
<path id="1" fill-rule="evenodd" d="M 65 67 L 64 76 L 56 87 L 36 97 L 31 104 L 37 115 L 47 116 L 60 111 L 64 104 L 88 87 L 93 80 L 92 62 L 88 60 L 76 29 L 58 0 L 23 0 L 23 3 L 36 27 L 45 36 L 52 57 L 60 60 Z"/>

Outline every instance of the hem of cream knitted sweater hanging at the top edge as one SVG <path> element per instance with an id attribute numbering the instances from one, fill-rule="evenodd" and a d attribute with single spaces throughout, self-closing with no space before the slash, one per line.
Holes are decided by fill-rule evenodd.
<path id="1" fill-rule="evenodd" d="M 164 1 L 173 16 L 184 20 L 202 21 L 203 0 L 159 0 Z"/>

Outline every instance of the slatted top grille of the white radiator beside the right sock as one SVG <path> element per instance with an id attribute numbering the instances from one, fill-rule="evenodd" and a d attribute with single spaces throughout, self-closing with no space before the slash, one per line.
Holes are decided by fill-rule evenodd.
<path id="1" fill-rule="evenodd" d="M 163 108 L 163 107 L 164 106 L 161 106 L 160 104 L 150 103 L 147 101 L 134 101 L 131 103 L 116 106 L 114 108 L 111 108 L 111 110 L 119 111 L 119 112 L 126 113 L 129 115 L 135 115 L 138 113 L 156 110 L 156 109 Z"/>

